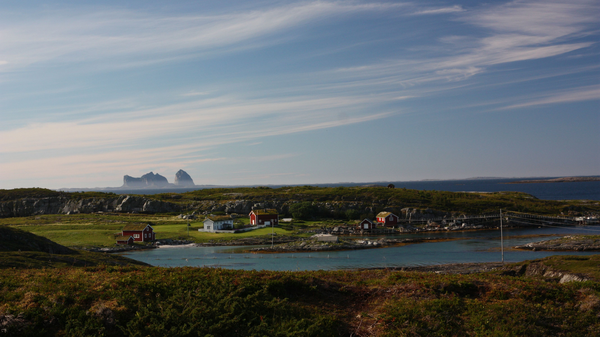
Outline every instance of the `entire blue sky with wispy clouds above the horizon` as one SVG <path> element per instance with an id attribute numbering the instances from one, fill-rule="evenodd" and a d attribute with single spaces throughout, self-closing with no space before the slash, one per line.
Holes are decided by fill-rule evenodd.
<path id="1" fill-rule="evenodd" d="M 0 188 L 600 174 L 600 1 L 3 1 Z"/>

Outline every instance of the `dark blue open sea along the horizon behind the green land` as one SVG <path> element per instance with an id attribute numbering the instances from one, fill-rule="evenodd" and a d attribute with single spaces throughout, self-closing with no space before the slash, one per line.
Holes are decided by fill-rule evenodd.
<path id="1" fill-rule="evenodd" d="M 551 179 L 552 177 L 537 178 Z M 536 178 L 527 178 L 534 180 Z M 425 189 L 437 191 L 478 191 L 478 192 L 500 192 L 517 191 L 526 192 L 540 199 L 546 200 L 600 200 L 600 181 L 592 182 L 553 182 L 553 183 L 509 183 L 523 178 L 502 178 L 502 179 L 465 179 L 465 180 L 427 180 L 427 181 L 398 181 L 391 182 L 396 188 Z M 387 185 L 389 182 L 377 183 Z M 367 185 L 363 183 L 328 183 L 315 184 L 312 186 L 359 186 Z M 289 185 L 268 185 L 272 188 L 279 188 Z M 227 186 L 236 187 L 236 186 Z M 181 193 L 194 191 L 202 188 L 164 188 L 164 189 L 118 189 L 112 190 L 118 194 L 157 194 L 157 193 Z M 92 189 L 93 190 L 93 189 Z M 107 191 L 107 190 L 103 190 Z"/>

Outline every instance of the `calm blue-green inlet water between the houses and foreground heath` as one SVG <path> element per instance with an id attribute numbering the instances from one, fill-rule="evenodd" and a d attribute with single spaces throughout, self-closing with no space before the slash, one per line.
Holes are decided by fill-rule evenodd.
<path id="1" fill-rule="evenodd" d="M 512 246 L 553 239 L 567 234 L 581 234 L 581 230 L 577 230 L 577 228 L 505 229 L 505 261 L 532 260 L 557 254 L 597 254 L 596 252 L 534 252 L 511 249 Z M 499 230 L 446 231 L 401 234 L 394 237 L 446 237 L 456 238 L 457 240 L 334 252 L 253 254 L 247 250 L 256 246 L 183 246 L 126 252 L 121 255 L 154 266 L 206 266 L 246 270 L 331 270 L 500 261 Z"/>

